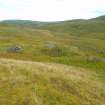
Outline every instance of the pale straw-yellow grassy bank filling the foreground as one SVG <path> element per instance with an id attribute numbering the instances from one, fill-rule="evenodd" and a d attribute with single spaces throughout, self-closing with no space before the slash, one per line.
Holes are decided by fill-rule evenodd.
<path id="1" fill-rule="evenodd" d="M 62 64 L 0 59 L 0 105 L 105 105 L 104 79 Z"/>

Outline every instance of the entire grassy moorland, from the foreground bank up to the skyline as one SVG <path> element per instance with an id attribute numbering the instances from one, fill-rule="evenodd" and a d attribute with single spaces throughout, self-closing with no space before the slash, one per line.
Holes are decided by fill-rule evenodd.
<path id="1" fill-rule="evenodd" d="M 2 21 L 0 59 L 1 105 L 105 104 L 105 16 Z"/>

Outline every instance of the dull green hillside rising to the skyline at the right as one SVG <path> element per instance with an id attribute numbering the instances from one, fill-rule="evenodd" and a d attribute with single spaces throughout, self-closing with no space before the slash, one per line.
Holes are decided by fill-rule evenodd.
<path id="1" fill-rule="evenodd" d="M 102 35 L 105 34 L 105 16 L 100 16 L 88 20 L 77 19 L 77 20 L 63 21 L 59 23 L 40 26 L 39 28 L 56 32 L 65 32 L 70 35 L 82 36 L 82 37 L 84 36 L 98 37 L 100 34 L 98 38 L 101 38 Z"/>

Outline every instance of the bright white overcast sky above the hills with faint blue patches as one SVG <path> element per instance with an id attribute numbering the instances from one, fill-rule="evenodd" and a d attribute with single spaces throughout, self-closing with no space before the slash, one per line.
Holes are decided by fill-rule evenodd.
<path id="1" fill-rule="evenodd" d="M 0 20 L 61 21 L 105 15 L 105 0 L 0 0 Z"/>

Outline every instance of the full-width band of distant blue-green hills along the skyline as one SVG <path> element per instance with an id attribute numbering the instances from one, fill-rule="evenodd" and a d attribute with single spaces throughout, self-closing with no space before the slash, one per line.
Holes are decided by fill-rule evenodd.
<path id="1" fill-rule="evenodd" d="M 59 22 L 39 22 L 31 20 L 5 20 L 0 24 L 29 26 L 38 29 L 46 29 L 56 32 L 66 32 L 71 35 L 84 35 L 89 33 L 103 33 L 105 32 L 105 16 L 96 17 L 93 19 L 83 20 L 74 19 Z"/>

